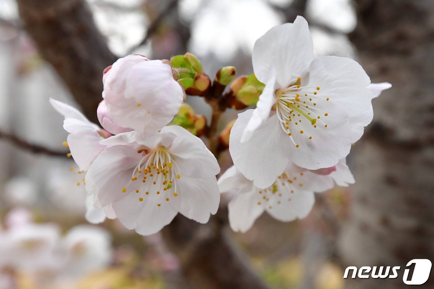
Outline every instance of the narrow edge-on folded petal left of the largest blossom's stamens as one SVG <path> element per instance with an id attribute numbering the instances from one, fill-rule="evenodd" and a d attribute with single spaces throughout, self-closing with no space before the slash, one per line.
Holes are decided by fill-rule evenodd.
<path id="1" fill-rule="evenodd" d="M 249 122 L 247 122 L 246 128 L 244 128 L 241 142 L 248 141 L 252 137 L 253 133 L 260 128 L 263 123 L 268 121 L 271 108 L 276 103 L 276 96 L 274 95 L 274 91 L 276 90 L 275 86 L 276 74 L 272 72 L 262 94 L 259 96 L 256 108 L 254 109 Z"/>

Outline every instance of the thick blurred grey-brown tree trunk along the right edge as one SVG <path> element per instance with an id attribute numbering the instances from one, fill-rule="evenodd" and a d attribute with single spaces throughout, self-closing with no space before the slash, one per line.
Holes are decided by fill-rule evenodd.
<path id="1" fill-rule="evenodd" d="M 350 39 L 361 63 L 373 82 L 393 87 L 373 101 L 374 121 L 353 150 L 341 256 L 345 266 L 401 266 L 397 279 L 349 279 L 349 288 L 405 288 L 408 261 L 434 262 L 434 1 L 358 0 L 355 8 Z"/>

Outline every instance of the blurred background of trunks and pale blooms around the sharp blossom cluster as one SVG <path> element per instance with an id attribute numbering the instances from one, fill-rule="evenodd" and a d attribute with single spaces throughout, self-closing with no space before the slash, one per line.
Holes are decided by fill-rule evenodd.
<path id="1" fill-rule="evenodd" d="M 130 53 L 190 52 L 209 76 L 222 66 L 253 73 L 255 40 L 297 15 L 316 56 L 353 58 L 372 82 L 393 85 L 373 101 L 374 121 L 347 159 L 355 185 L 317 194 L 304 220 L 264 213 L 244 234 L 221 226 L 223 253 L 194 243 L 184 219 L 148 237 L 117 220 L 85 221 L 82 176 L 71 172 L 49 98 L 97 122 L 102 70 Z M 403 270 L 398 279 L 342 276 L 346 266 L 434 260 L 433 16 L 431 0 L 0 0 L 0 289 L 404 288 Z M 203 99 L 187 102 L 209 115 Z M 221 129 L 238 112 L 228 109 Z M 227 152 L 220 163 L 230 165 Z M 190 244 L 198 253 L 180 249 Z M 237 263 L 228 267 L 236 274 L 222 280 L 211 263 Z"/>

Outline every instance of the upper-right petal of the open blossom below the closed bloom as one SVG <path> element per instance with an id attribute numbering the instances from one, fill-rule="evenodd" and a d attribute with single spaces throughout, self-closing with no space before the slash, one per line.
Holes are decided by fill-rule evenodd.
<path id="1" fill-rule="evenodd" d="M 220 172 L 220 166 L 214 155 L 204 142 L 192 135 L 185 128 L 170 125 L 161 129 L 161 135 L 176 135 L 170 146 L 169 153 L 180 168 L 181 177 L 210 178 Z"/>

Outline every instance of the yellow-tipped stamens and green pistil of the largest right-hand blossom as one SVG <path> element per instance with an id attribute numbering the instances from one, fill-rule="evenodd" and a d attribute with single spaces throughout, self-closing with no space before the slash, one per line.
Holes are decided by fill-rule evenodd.
<path id="1" fill-rule="evenodd" d="M 293 79 L 290 83 L 292 84 L 285 88 L 276 89 L 275 108 L 280 126 L 298 148 L 299 145 L 296 144 L 292 137 L 292 131 L 299 131 L 302 134 L 304 131 L 299 130 L 299 128 L 302 128 L 302 120 L 304 119 L 307 119 L 310 125 L 316 128 L 317 121 L 322 122 L 320 115 L 329 115 L 322 112 L 321 105 L 317 106 L 317 102 L 320 104 L 323 100 L 328 101 L 329 98 L 319 94 L 319 86 L 302 86 L 300 77 Z M 327 127 L 324 122 L 322 124 L 325 128 Z M 312 136 L 306 137 L 312 139 Z"/>

